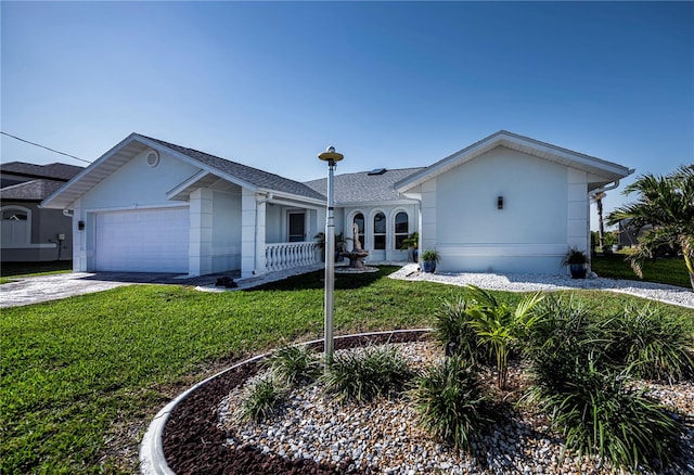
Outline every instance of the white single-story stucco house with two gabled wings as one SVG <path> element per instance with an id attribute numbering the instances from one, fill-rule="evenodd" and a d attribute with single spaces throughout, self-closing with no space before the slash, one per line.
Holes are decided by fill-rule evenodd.
<path id="1" fill-rule="evenodd" d="M 589 249 L 589 194 L 631 172 L 499 131 L 427 167 L 337 175 L 336 233 L 357 222 L 372 261 L 406 261 L 417 231 L 442 271 L 565 272 Z M 325 190 L 132 133 L 42 206 L 72 213 L 76 271 L 250 278 L 320 261 Z"/>

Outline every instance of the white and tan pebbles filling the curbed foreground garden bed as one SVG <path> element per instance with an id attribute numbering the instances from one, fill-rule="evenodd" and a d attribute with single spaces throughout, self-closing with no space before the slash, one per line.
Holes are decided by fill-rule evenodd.
<path id="1" fill-rule="evenodd" d="M 413 367 L 422 368 L 440 358 L 432 342 L 399 344 Z M 350 351 L 350 350 L 343 350 Z M 266 376 L 260 373 L 246 384 Z M 486 377 L 493 380 L 490 373 Z M 520 382 L 524 373 L 511 368 L 510 381 Z M 689 470 L 694 473 L 694 385 L 650 383 L 651 395 L 677 407 L 686 416 L 687 433 L 682 446 Z M 246 387 L 246 386 L 244 386 Z M 496 425 L 481 442 L 479 459 L 452 450 L 416 424 L 416 413 L 407 398 L 378 399 L 372 403 L 339 405 L 326 399 L 317 386 L 296 389 L 284 412 L 267 423 L 240 423 L 234 418 L 244 387 L 235 388 L 218 408 L 219 423 L 230 434 L 231 448 L 246 445 L 264 453 L 316 462 L 348 462 L 351 468 L 378 474 L 624 474 L 601 464 L 597 458 L 570 457 L 562 460 L 561 437 L 550 431 L 543 414 L 510 410 L 510 420 Z M 646 473 L 646 472 L 640 472 Z M 682 472 L 661 471 L 664 474 Z"/>

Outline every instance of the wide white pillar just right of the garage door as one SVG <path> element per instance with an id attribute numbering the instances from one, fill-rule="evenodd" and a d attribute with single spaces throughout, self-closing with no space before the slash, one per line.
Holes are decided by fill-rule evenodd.
<path id="1" fill-rule="evenodd" d="M 200 188 L 190 197 L 189 275 L 213 272 L 213 191 Z"/>

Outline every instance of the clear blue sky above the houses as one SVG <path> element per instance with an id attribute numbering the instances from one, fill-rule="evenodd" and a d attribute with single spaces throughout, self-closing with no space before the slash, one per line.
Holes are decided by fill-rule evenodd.
<path id="1" fill-rule="evenodd" d="M 2 131 L 88 161 L 137 131 L 305 181 L 329 144 L 338 172 L 402 168 L 505 129 L 635 176 L 694 162 L 692 2 L 0 8 Z"/>

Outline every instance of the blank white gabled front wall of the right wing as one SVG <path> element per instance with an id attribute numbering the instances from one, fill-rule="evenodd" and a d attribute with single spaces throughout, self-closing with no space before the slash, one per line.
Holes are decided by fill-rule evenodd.
<path id="1" fill-rule="evenodd" d="M 441 271 L 566 272 L 567 246 L 588 239 L 575 171 L 500 146 L 423 183 L 422 251 L 439 252 Z"/>

